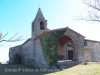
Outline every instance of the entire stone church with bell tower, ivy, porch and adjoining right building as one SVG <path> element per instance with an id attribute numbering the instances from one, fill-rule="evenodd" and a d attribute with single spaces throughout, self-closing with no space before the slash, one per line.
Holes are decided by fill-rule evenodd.
<path id="1" fill-rule="evenodd" d="M 52 59 L 100 62 L 99 41 L 87 40 L 68 27 L 48 29 L 40 8 L 31 28 L 31 38 L 9 49 L 9 63 L 13 63 L 15 54 L 19 54 L 22 64 L 36 67 L 48 67 Z"/>

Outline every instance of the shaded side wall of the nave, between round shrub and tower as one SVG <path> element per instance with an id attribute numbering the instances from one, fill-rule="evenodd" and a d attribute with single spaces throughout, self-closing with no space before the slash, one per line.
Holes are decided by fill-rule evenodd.
<path id="1" fill-rule="evenodd" d="M 21 62 L 26 65 L 34 64 L 34 60 L 32 57 L 32 41 L 28 40 L 25 44 L 22 45 L 22 56 Z"/>

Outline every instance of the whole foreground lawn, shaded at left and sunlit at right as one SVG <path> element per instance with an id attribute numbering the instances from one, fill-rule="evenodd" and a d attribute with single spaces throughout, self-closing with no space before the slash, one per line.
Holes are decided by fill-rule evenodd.
<path id="1" fill-rule="evenodd" d="M 19 64 L 0 64 L 0 75 L 100 75 L 100 64 L 77 65 L 58 72 Z"/>

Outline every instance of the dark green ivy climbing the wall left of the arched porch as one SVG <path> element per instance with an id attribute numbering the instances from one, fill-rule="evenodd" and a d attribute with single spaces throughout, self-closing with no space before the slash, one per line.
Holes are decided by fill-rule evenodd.
<path id="1" fill-rule="evenodd" d="M 43 50 L 43 56 L 46 60 L 46 63 L 49 66 L 57 65 L 58 41 L 59 41 L 60 36 L 63 35 L 65 31 L 66 30 L 49 32 L 40 38 L 40 42 L 41 42 L 41 46 L 42 46 L 42 50 Z"/>

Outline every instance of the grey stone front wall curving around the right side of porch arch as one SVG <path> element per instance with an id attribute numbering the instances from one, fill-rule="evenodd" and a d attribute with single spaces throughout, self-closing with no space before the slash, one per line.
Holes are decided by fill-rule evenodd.
<path id="1" fill-rule="evenodd" d="M 74 42 L 75 59 L 77 61 L 83 62 L 84 61 L 84 37 L 70 29 L 67 29 L 64 35 L 70 37 Z"/>

